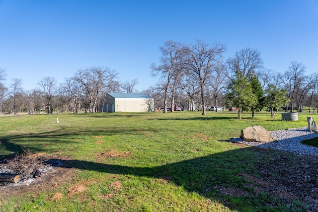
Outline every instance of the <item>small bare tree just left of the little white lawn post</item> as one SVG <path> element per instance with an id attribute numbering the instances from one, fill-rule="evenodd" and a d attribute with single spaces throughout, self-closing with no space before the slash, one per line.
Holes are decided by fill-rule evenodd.
<path id="1" fill-rule="evenodd" d="M 56 90 L 56 79 L 50 76 L 43 77 L 42 80 L 38 82 L 38 84 L 43 89 L 45 99 L 46 99 L 47 113 L 50 114 L 52 112 L 51 100 Z"/>

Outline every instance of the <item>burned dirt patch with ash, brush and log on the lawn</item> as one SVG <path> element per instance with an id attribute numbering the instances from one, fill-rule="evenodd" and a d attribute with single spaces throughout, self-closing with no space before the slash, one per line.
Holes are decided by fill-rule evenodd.
<path id="1" fill-rule="evenodd" d="M 65 164 L 67 158 L 55 155 L 24 152 L 14 157 L 0 160 L 0 203 L 26 192 L 37 194 L 52 191 L 77 175 L 76 168 Z M 10 182 L 5 175 L 19 176 L 18 182 Z"/>

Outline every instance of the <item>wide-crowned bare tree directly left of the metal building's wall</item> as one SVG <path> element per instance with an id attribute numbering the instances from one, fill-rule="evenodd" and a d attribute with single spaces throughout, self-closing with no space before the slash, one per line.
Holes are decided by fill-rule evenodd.
<path id="1" fill-rule="evenodd" d="M 100 99 L 102 90 L 111 79 L 118 75 L 117 71 L 109 68 L 91 67 L 79 69 L 75 79 L 84 87 L 89 99 L 89 112 L 95 113 L 97 101 Z"/>

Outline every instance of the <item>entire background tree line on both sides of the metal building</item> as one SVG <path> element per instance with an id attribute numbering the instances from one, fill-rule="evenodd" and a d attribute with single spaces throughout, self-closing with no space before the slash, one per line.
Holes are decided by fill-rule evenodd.
<path id="1" fill-rule="evenodd" d="M 257 49 L 244 48 L 224 58 L 226 46 L 196 40 L 194 44 L 166 41 L 159 48 L 159 64 L 151 64 L 151 75 L 159 81 L 142 90 L 155 98 L 156 107 L 174 111 L 202 110 L 210 106 L 235 106 L 243 111 L 274 110 L 318 112 L 318 75 L 306 75 L 306 67 L 293 61 L 284 72 L 263 66 Z M 0 68 L 0 114 L 29 114 L 71 111 L 102 112 L 107 92 L 136 92 L 138 79 L 118 81 L 119 73 L 104 67 L 79 69 L 73 77 L 57 84 L 54 77 L 43 77 L 38 88 L 22 89 L 22 80 L 14 78 L 4 85 L 5 69 Z"/>

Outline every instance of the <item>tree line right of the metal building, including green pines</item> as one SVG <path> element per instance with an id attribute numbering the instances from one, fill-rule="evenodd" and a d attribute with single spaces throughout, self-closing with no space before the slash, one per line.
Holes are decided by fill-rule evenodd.
<path id="1" fill-rule="evenodd" d="M 187 110 L 202 110 L 207 106 L 236 106 L 242 111 L 255 112 L 264 108 L 302 112 L 318 110 L 318 75 L 306 75 L 306 67 L 297 61 L 290 63 L 282 73 L 263 66 L 257 49 L 244 48 L 233 57 L 224 58 L 226 46 L 207 44 L 197 40 L 194 44 L 166 41 L 159 48 L 160 64 L 152 64 L 152 75 L 160 81 L 148 89 L 156 97 L 157 105 L 166 113 L 169 108 L 183 105 Z M 318 112 L 318 111 L 317 111 Z"/>

